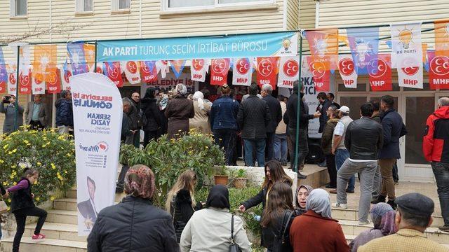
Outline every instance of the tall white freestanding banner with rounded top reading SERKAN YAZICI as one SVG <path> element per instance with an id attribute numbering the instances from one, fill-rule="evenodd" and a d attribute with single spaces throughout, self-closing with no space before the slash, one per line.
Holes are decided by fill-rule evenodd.
<path id="1" fill-rule="evenodd" d="M 116 84 L 99 73 L 70 78 L 76 153 L 78 235 L 114 204 L 123 106 Z M 98 130 L 100 128 L 100 130 Z"/>

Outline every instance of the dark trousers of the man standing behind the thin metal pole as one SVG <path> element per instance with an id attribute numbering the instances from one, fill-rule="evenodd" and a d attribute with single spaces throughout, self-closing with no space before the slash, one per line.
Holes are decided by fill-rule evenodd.
<path id="1" fill-rule="evenodd" d="M 296 129 L 288 127 L 288 139 L 290 141 L 289 146 L 291 146 L 290 151 L 290 168 L 293 170 L 293 172 L 297 172 L 297 167 L 295 167 L 295 146 L 296 146 Z M 297 163 L 298 165 L 301 165 L 306 156 L 307 153 L 309 153 L 309 144 L 307 143 L 307 137 L 308 137 L 308 130 L 307 129 L 301 129 L 300 128 L 300 134 L 298 138 L 298 158 Z"/>

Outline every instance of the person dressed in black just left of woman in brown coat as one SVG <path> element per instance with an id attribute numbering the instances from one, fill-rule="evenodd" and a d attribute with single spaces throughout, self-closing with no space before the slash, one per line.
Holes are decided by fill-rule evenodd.
<path id="1" fill-rule="evenodd" d="M 143 138 L 143 147 L 145 148 L 149 141 L 157 138 L 157 130 L 161 127 L 161 116 L 156 105 L 156 90 L 154 87 L 147 88 L 145 97 L 140 99 L 140 106 L 147 118 L 147 124 L 143 125 L 145 136 Z"/>

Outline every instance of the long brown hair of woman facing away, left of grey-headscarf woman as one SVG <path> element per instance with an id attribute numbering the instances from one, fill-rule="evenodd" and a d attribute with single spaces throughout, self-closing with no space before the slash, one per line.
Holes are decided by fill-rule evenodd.
<path id="1" fill-rule="evenodd" d="M 260 225 L 266 228 L 287 209 L 293 211 L 292 188 L 286 183 L 274 183 L 272 190 L 269 191 L 267 206 L 262 214 Z"/>

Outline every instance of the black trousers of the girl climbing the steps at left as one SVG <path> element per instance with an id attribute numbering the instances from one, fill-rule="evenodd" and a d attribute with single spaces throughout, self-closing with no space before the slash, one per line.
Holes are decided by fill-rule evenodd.
<path id="1" fill-rule="evenodd" d="M 25 232 L 25 222 L 27 221 L 27 216 L 39 217 L 37 221 L 36 229 L 34 230 L 34 235 L 39 235 L 41 232 L 43 223 L 47 218 L 47 212 L 43 209 L 32 207 L 27 209 L 20 209 L 14 212 L 15 222 L 17 223 L 17 232 L 15 232 L 14 242 L 13 242 L 13 252 L 19 251 L 20 239 L 22 239 L 23 232 Z"/>

